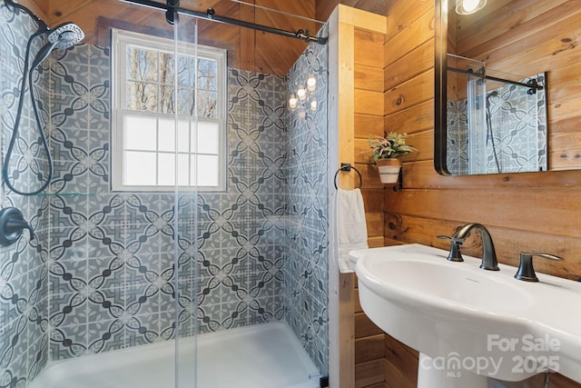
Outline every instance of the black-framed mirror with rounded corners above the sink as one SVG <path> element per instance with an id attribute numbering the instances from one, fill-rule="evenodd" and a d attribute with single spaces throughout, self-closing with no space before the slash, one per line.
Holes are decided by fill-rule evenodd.
<path id="1" fill-rule="evenodd" d="M 435 2 L 438 173 L 580 169 L 581 3 L 463 2 Z"/>

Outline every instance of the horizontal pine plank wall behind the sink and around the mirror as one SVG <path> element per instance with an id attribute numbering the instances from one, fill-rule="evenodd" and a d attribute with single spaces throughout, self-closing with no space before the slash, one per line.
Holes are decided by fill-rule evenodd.
<path id="1" fill-rule="evenodd" d="M 535 13 L 534 7 L 530 8 L 532 2 L 527 3 L 529 8 L 520 12 L 520 16 Z M 548 5 L 547 2 L 538 2 L 541 3 L 545 7 Z M 572 2 L 558 3 L 571 5 Z M 561 18 L 568 16 L 564 12 Z M 420 151 L 404 164 L 403 191 L 384 190 L 385 244 L 419 243 L 447 249 L 448 244 L 438 240 L 436 235 L 452 234 L 458 225 L 479 222 L 487 225 L 492 234 L 500 262 L 516 266 L 518 254 L 522 251 L 558 254 L 565 258 L 564 262 L 538 261 L 537 272 L 581 279 L 581 258 L 578 255 L 581 248 L 578 222 L 581 172 L 445 177 L 434 171 L 433 15 L 431 1 L 399 0 L 389 9 L 385 43 L 385 128 L 405 129 L 412 134 L 409 143 Z M 576 29 L 563 31 L 559 38 L 571 39 L 567 43 L 576 42 L 579 39 L 578 27 L 577 23 Z M 581 49 L 575 45 L 567 45 L 563 68 L 559 67 L 559 61 L 551 61 L 551 68 L 546 69 L 551 70 L 553 76 L 566 79 L 560 84 L 566 91 L 551 88 L 549 93 L 556 95 L 560 104 L 568 106 L 566 114 L 558 114 L 556 110 L 561 106 L 554 104 L 555 113 L 549 131 L 560 132 L 562 127 L 576 134 L 581 131 L 578 125 L 581 120 L 578 78 Z M 530 49 L 533 55 L 539 55 L 539 50 Z M 521 52 L 522 55 L 528 53 L 522 47 Z M 551 55 L 559 54 L 551 51 Z M 574 69 L 571 65 L 573 58 L 576 59 Z M 525 57 L 519 61 L 528 60 L 530 58 Z M 574 71 L 574 75 L 565 76 L 566 70 Z M 470 240 L 464 251 L 479 255 L 479 239 L 472 237 Z M 386 380 L 396 381 L 397 371 L 394 373 Z M 399 373 L 403 371 L 399 370 Z M 530 380 L 507 386 L 539 386 L 539 383 Z M 556 374 L 551 378 L 551 386 L 581 387 L 581 384 Z"/>

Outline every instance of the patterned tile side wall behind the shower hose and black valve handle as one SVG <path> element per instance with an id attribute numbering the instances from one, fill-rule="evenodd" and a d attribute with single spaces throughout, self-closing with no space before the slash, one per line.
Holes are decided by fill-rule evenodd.
<path id="1" fill-rule="evenodd" d="M 13 134 L 18 104 L 23 98 L 20 135 L 10 159 L 11 182 L 20 190 L 34 187 L 35 173 L 41 172 L 46 157 L 39 151 L 37 130 L 30 104 L 30 87 L 21 91 L 26 43 L 38 25 L 24 12 L 0 5 L 0 128 L 2 160 Z M 44 45 L 37 38 L 31 56 Z M 48 78 L 45 67 L 34 72 L 34 95 L 40 98 L 41 118 L 46 118 L 45 98 Z M 47 273 L 46 219 L 48 201 L 41 196 L 25 197 L 13 194 L 2 185 L 2 208 L 17 207 L 34 227 L 35 237 L 28 232 L 16 243 L 0 247 L 0 386 L 25 387 L 26 383 L 44 368 L 48 351 L 47 328 Z"/>

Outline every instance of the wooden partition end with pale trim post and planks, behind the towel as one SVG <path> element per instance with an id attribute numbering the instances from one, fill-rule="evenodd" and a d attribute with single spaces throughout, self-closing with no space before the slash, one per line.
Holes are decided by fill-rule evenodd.
<path id="1" fill-rule="evenodd" d="M 336 17 L 339 18 L 337 25 Z M 377 174 L 369 174 L 369 165 L 358 163 L 362 156 L 357 153 L 357 139 L 363 126 L 373 125 L 378 134 L 382 134 L 385 27 L 384 16 L 371 16 L 351 7 L 340 5 L 331 15 L 330 58 L 335 58 L 334 51 L 339 55 L 337 69 L 330 71 L 330 101 L 335 102 L 330 104 L 330 112 L 337 115 L 337 123 L 330 124 L 337 128 L 337 163 L 354 164 L 362 173 L 361 191 L 367 198 L 368 241 L 372 246 L 383 244 L 383 194 Z M 333 78 L 335 74 L 336 79 Z M 357 174 L 340 174 L 339 186 L 343 189 L 359 187 Z M 332 284 L 337 276 L 330 274 L 331 290 L 335 289 Z M 385 380 L 385 334 L 360 311 L 359 303 L 354 302 L 357 297 L 355 281 L 353 274 L 339 275 L 340 311 L 330 313 L 330 319 L 339 318 L 339 322 L 330 323 L 330 327 L 339 325 L 339 341 L 343 343 L 338 347 L 339 381 L 333 388 L 379 388 Z M 332 306 L 334 304 L 330 303 L 330 311 Z M 331 383 L 332 380 L 333 376 Z"/>

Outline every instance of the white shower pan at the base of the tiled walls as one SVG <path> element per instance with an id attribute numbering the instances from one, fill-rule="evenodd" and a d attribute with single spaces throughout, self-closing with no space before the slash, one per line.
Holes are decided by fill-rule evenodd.
<path id="1" fill-rule="evenodd" d="M 194 383 L 194 349 L 197 383 Z M 285 323 L 179 342 L 180 388 L 319 388 L 320 374 Z M 172 388 L 173 341 L 50 363 L 29 388 Z"/>

